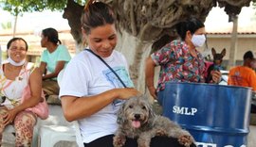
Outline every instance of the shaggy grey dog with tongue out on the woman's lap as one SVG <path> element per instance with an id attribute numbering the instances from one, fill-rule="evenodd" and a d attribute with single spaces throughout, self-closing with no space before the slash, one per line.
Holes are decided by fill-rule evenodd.
<path id="1" fill-rule="evenodd" d="M 118 112 L 119 129 L 113 144 L 121 147 L 126 137 L 137 139 L 138 147 L 150 147 L 155 136 L 166 136 L 178 139 L 184 146 L 190 146 L 192 135 L 166 117 L 155 115 L 152 105 L 146 96 L 132 97 L 127 100 Z"/>

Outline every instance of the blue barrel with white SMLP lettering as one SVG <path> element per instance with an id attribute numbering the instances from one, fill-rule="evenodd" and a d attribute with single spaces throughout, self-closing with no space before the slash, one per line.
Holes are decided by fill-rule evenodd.
<path id="1" fill-rule="evenodd" d="M 163 115 L 187 129 L 197 146 L 247 146 L 251 89 L 167 83 L 162 92 Z"/>

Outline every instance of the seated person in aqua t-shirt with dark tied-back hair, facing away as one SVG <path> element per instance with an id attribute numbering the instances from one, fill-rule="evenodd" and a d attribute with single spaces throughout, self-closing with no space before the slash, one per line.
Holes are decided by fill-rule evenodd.
<path id="1" fill-rule="evenodd" d="M 46 97 L 59 95 L 60 88 L 57 83 L 57 76 L 71 57 L 67 48 L 59 40 L 56 29 L 51 27 L 44 29 L 41 38 L 41 46 L 46 47 L 40 62 L 40 70 L 43 74 L 43 90 Z"/>

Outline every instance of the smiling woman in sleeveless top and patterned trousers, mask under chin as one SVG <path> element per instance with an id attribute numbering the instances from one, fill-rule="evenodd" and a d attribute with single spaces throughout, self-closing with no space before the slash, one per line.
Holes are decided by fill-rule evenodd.
<path id="1" fill-rule="evenodd" d="M 8 62 L 0 69 L 0 146 L 5 127 L 9 124 L 15 128 L 15 146 L 30 146 L 33 128 L 37 122 L 37 115 L 27 108 L 41 102 L 42 74 L 39 68 L 28 68 L 27 41 L 13 38 L 8 42 Z M 27 74 L 28 72 L 28 74 Z M 29 101 L 21 103 L 22 93 L 29 84 L 31 97 Z"/>

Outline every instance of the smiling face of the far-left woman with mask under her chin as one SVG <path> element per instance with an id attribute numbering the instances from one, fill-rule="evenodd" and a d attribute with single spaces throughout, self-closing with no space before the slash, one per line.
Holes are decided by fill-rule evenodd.
<path id="1" fill-rule="evenodd" d="M 26 43 L 22 40 L 12 41 L 8 49 L 9 57 L 15 62 L 20 62 L 27 55 Z"/>

